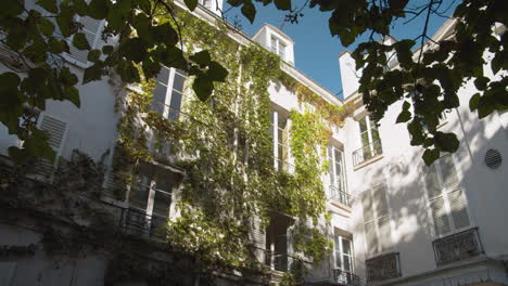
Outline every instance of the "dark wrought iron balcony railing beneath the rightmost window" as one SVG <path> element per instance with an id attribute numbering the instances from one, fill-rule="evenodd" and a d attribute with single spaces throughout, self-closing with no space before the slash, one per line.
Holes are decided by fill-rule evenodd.
<path id="1" fill-rule="evenodd" d="M 432 243 L 437 265 L 444 265 L 483 253 L 478 227 L 452 234 Z"/>

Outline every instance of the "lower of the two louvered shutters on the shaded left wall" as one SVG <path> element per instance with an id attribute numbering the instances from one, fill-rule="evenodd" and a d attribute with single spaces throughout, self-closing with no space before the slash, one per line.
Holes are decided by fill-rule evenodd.
<path id="1" fill-rule="evenodd" d="M 39 129 L 48 133 L 48 143 L 55 153 L 54 164 L 47 159 L 39 159 L 36 164 L 36 174 L 42 179 L 49 180 L 53 173 L 53 167 L 56 165 L 62 153 L 62 146 L 67 132 L 67 123 L 49 115 L 42 115 L 39 123 Z"/>

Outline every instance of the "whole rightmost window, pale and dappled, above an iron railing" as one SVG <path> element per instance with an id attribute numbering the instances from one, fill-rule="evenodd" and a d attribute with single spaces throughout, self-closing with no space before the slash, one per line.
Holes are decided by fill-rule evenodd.
<path id="1" fill-rule="evenodd" d="M 437 236 L 469 226 L 466 198 L 459 186 L 457 169 L 447 154 L 426 168 L 429 207 Z"/>

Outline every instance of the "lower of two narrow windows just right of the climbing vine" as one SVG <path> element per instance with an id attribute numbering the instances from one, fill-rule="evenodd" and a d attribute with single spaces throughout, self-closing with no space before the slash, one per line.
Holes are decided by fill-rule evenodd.
<path id="1" fill-rule="evenodd" d="M 351 238 L 335 234 L 334 244 L 335 268 L 340 270 L 338 282 L 351 283 L 351 274 L 354 273 L 353 242 Z"/>

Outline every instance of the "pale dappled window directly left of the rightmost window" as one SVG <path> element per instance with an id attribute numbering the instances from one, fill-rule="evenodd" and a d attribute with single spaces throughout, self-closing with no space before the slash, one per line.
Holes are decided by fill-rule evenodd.
<path id="1" fill-rule="evenodd" d="M 365 237 L 367 253 L 374 256 L 393 249 L 386 185 L 379 184 L 366 191 L 361 197 L 364 206 Z"/>

